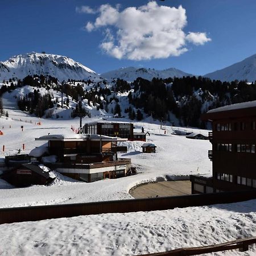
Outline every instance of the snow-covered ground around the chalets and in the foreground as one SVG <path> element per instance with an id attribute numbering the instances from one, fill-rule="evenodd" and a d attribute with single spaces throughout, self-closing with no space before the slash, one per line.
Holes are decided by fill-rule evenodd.
<path id="1" fill-rule="evenodd" d="M 79 125 L 79 119 L 30 117 L 16 110 L 5 97 L 3 105 L 9 112 L 9 118 L 0 118 L 0 130 L 4 133 L 0 136 L 0 165 L 5 155 L 18 152 L 23 143 L 26 147 L 24 152 L 30 152 L 35 146 L 44 143 L 35 141 L 35 138 L 48 133 L 72 134 L 71 125 Z M 85 121 L 92 119 L 84 118 Z M 39 122 L 41 125 L 35 124 Z M 24 126 L 23 131 L 21 125 Z M 159 124 L 140 122 L 135 123 L 135 131 L 139 131 L 141 126 L 150 132 L 148 142 L 157 146 L 156 153 L 142 154 L 143 142 L 126 142 L 128 152 L 119 155 L 131 158 L 139 171 L 138 175 L 81 183 L 55 172 L 57 178 L 50 186 L 35 185 L 28 188 L 12 188 L 1 180 L 0 207 L 131 199 L 129 189 L 134 185 L 166 175 L 209 175 L 212 172 L 207 154 L 211 148 L 209 141 L 172 135 L 173 130 L 197 132 L 197 129 L 166 126 L 166 130 L 160 130 Z M 208 133 L 199 131 L 205 135 Z M 5 152 L 2 152 L 3 144 Z M 210 207 L 3 224 L 0 225 L 0 255 L 134 255 L 210 245 L 256 236 L 255 212 L 256 200 L 251 200 Z M 255 251 L 253 246 L 248 253 L 229 251 L 216 255 L 255 255 Z"/>

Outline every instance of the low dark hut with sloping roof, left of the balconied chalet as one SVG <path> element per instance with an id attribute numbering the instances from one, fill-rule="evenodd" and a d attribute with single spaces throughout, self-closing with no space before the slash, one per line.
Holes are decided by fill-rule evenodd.
<path id="1" fill-rule="evenodd" d="M 1 178 L 16 187 L 27 187 L 30 185 L 47 185 L 55 179 L 55 175 L 44 171 L 35 164 L 26 163 L 4 172 Z"/>

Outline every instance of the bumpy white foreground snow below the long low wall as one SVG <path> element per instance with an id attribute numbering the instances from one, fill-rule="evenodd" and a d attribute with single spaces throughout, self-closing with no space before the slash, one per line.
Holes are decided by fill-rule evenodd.
<path id="1" fill-rule="evenodd" d="M 0 254 L 139 255 L 233 241 L 256 236 L 255 202 L 3 224 Z M 255 245 L 205 255 L 252 256 Z"/>

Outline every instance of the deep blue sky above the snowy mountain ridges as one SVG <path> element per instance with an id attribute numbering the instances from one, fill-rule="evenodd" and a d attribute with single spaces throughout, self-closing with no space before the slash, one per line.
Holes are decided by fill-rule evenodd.
<path id="1" fill-rule="evenodd" d="M 180 48 L 175 48 L 166 38 L 157 41 L 159 35 L 156 35 L 156 40 L 152 38 L 156 45 L 150 43 L 150 47 L 153 47 L 152 51 L 150 47 L 143 50 L 144 52 L 141 51 L 141 47 L 145 45 L 144 42 L 133 45 L 131 51 L 128 48 L 133 42 L 130 42 L 131 44 L 125 42 L 122 49 L 118 48 L 120 43 L 116 34 L 118 29 L 121 28 L 121 32 L 129 31 L 127 32 L 129 36 L 134 33 L 132 25 L 135 20 L 126 20 L 122 26 L 119 24 L 120 18 L 125 16 L 122 11 L 131 6 L 148 6 L 148 2 L 150 1 L 1 0 L 0 60 L 7 60 L 20 53 L 46 51 L 71 57 L 97 73 L 134 66 L 155 69 L 175 67 L 188 73 L 204 75 L 256 53 L 255 0 L 155 1 L 156 11 L 162 11 L 160 6 L 175 7 L 175 10 L 182 6 L 182 10 L 177 13 L 177 19 L 175 18 L 173 22 L 175 27 L 181 26 L 180 23 L 184 22 L 184 17 L 180 18 L 181 11 L 185 11 L 187 24 L 181 26 L 184 36 L 187 36 L 185 43 Z M 97 26 L 96 18 L 102 15 L 98 8 L 107 3 L 117 11 L 119 19 L 111 24 L 109 19 L 106 19 L 104 24 Z M 118 3 L 121 5 L 116 7 Z M 82 6 L 90 7 L 93 10 L 92 13 L 79 12 Z M 153 26 L 152 29 L 158 29 L 158 25 L 162 26 L 162 23 L 158 20 L 154 22 L 154 17 L 148 20 L 148 27 L 155 24 L 156 28 Z M 143 16 L 141 18 L 138 22 L 143 20 Z M 85 29 L 88 22 L 93 25 L 92 31 Z M 143 22 L 143 26 L 147 24 Z M 159 31 L 161 29 L 160 27 Z M 110 35 L 106 36 L 106 30 L 111 32 Z M 203 36 L 201 44 L 196 43 L 195 38 L 189 39 L 189 32 L 200 33 L 194 35 L 197 39 Z M 144 35 L 144 39 L 150 36 L 152 35 L 149 30 L 148 35 Z M 182 39 L 184 38 L 179 38 L 179 40 Z M 124 42 L 125 38 L 122 40 Z M 165 40 L 167 41 L 164 42 Z M 107 47 L 109 43 L 114 45 L 106 50 L 106 45 L 105 48 L 102 47 L 104 42 L 108 43 Z M 174 44 L 177 42 L 176 40 Z M 155 49 L 155 46 L 162 46 L 162 44 L 163 47 L 160 47 L 162 52 L 158 54 L 158 48 Z M 129 47 L 126 49 L 126 46 Z M 118 48 L 118 53 L 114 53 L 115 48 Z M 185 51 L 181 53 L 180 49 Z M 147 52 L 149 55 L 152 53 L 150 59 L 145 58 Z M 175 54 L 179 56 L 172 56 L 172 52 L 176 52 Z M 170 56 L 161 57 L 165 54 Z M 136 58 L 138 60 L 135 60 Z"/>

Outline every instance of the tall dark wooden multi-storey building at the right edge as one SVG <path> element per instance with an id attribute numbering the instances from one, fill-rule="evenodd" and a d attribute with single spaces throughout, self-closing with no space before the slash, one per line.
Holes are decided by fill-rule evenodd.
<path id="1" fill-rule="evenodd" d="M 191 176 L 192 193 L 256 188 L 256 101 L 209 110 L 212 178 Z"/>

